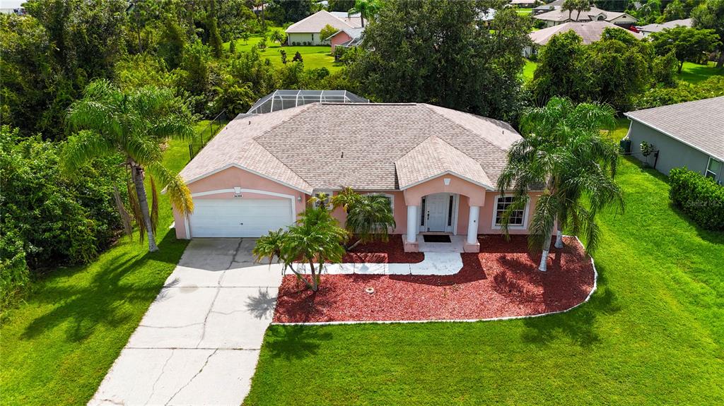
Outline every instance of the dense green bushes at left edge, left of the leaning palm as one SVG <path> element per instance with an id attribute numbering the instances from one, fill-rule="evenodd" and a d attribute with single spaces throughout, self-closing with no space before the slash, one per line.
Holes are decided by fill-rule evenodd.
<path id="1" fill-rule="evenodd" d="M 124 176 L 119 162 L 96 160 L 67 176 L 59 169 L 59 144 L 1 127 L 3 292 L 27 280 L 28 269 L 83 264 L 109 246 L 120 226 L 112 193 Z"/>

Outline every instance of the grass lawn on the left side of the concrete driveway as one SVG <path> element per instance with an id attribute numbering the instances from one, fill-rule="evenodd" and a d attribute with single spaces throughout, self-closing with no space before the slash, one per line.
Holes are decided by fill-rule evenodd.
<path id="1" fill-rule="evenodd" d="M 196 126 L 206 128 L 208 121 Z M 186 142 L 171 142 L 164 152 L 172 170 L 188 160 Z M 93 397 L 186 248 L 169 229 L 172 221 L 161 196 L 159 252 L 122 238 L 92 264 L 51 273 L 3 314 L 0 404 L 85 405 Z"/>

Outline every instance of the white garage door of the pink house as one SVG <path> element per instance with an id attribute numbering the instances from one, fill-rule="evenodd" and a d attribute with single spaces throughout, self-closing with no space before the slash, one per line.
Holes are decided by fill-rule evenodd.
<path id="1" fill-rule="evenodd" d="M 194 199 L 191 237 L 258 237 L 291 225 L 291 199 Z"/>

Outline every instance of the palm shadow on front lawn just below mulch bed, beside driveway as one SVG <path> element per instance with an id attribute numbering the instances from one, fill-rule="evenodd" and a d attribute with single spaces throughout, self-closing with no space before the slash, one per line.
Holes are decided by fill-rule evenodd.
<path id="1" fill-rule="evenodd" d="M 332 333 L 317 326 L 271 326 L 266 331 L 264 348 L 274 358 L 303 359 L 316 355 L 323 341 L 332 340 Z"/>

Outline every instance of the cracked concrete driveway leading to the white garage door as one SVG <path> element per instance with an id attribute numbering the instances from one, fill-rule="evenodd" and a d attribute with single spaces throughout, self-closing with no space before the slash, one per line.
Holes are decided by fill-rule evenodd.
<path id="1" fill-rule="evenodd" d="M 254 243 L 191 241 L 88 404 L 240 405 L 282 280 Z"/>

